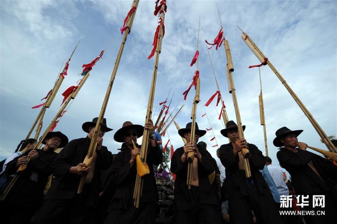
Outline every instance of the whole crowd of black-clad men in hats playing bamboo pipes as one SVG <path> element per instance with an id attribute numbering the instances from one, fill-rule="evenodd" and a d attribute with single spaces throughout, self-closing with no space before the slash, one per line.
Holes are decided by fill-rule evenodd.
<path id="1" fill-rule="evenodd" d="M 154 132 L 152 121 L 142 125 L 124 122 L 114 134 L 121 143 L 120 152 L 113 155 L 103 146 L 105 132 L 112 131 L 103 119 L 91 164 L 87 156 L 98 118 L 85 122 L 82 129 L 87 136 L 68 142 L 65 134 L 49 132 L 44 147 L 36 149 L 36 139 L 22 141 L 9 156 L 0 173 L 3 192 L 19 167 L 27 167 L 15 179 L 11 190 L 0 202 L 3 223 L 155 223 L 158 192 L 152 167 L 162 163 L 161 138 Z M 221 130 L 229 143 L 217 150 L 217 159 L 207 151 L 199 139 L 205 130 L 195 127 L 191 141 L 192 123 L 178 131 L 186 145 L 176 149 L 170 172 L 175 174 L 172 223 L 210 224 L 292 224 L 327 223 L 337 213 L 337 166 L 328 159 L 306 150 L 298 141 L 302 130 L 282 127 L 273 141 L 278 162 L 246 139 L 239 137 L 238 126 L 229 121 Z M 242 126 L 245 130 L 245 126 Z M 139 207 L 134 206 L 133 192 L 137 175 L 137 155 L 141 146 L 137 138 L 144 129 L 149 131 L 146 163 L 150 167 L 141 187 Z M 134 148 L 133 142 L 136 143 Z M 334 142 L 336 143 L 336 142 Z M 22 144 L 22 145 L 21 145 Z M 62 150 L 60 150 L 62 149 Z M 243 149 L 248 149 L 244 153 Z M 188 153 L 194 153 L 189 170 Z M 27 162 L 29 161 L 29 162 Z M 248 161 L 248 162 L 247 162 Z M 291 175 L 274 164 L 279 163 Z M 249 166 L 250 177 L 247 177 Z M 187 185 L 190 172 L 190 187 Z M 81 178 L 84 187 L 78 193 Z M 314 206 L 316 196 L 324 196 L 324 205 Z M 300 206 L 299 198 L 307 206 Z M 284 200 L 292 198 L 290 206 Z M 297 200 L 296 200 L 297 199 Z M 285 211 L 314 211 L 314 214 L 286 215 Z M 324 215 L 317 212 L 323 211 Z"/>

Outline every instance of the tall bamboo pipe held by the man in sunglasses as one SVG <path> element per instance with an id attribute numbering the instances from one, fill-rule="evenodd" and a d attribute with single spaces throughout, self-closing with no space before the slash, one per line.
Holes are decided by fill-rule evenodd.
<path id="1" fill-rule="evenodd" d="M 153 74 L 152 74 L 149 101 L 148 101 L 146 117 L 145 117 L 145 124 L 150 122 L 151 115 L 152 115 L 153 100 L 154 100 L 154 93 L 155 93 L 156 79 L 157 79 L 157 72 L 158 72 L 159 54 L 160 54 L 163 32 L 164 32 L 164 28 L 163 28 L 163 25 L 165 22 L 164 7 L 165 5 L 162 4 L 162 7 L 161 7 L 162 12 L 160 15 L 161 23 L 159 24 L 160 26 L 159 26 L 159 33 L 158 33 L 158 39 L 157 39 L 157 47 L 155 51 L 156 54 L 155 54 L 154 68 L 153 68 Z M 141 152 L 140 152 L 140 158 L 142 162 L 147 161 L 148 148 L 149 148 L 149 130 L 145 129 L 143 133 L 142 147 L 141 147 Z M 143 192 L 143 185 L 144 185 L 143 179 L 137 173 L 135 188 L 133 192 L 134 206 L 136 208 L 139 207 L 140 197 L 142 196 L 142 192 Z"/>

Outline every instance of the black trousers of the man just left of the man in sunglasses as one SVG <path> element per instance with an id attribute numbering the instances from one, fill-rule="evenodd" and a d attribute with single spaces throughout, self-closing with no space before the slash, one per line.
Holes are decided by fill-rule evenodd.
<path id="1" fill-rule="evenodd" d="M 92 224 L 95 223 L 95 209 L 85 206 L 78 198 L 44 200 L 40 210 L 32 219 L 33 224 Z"/>

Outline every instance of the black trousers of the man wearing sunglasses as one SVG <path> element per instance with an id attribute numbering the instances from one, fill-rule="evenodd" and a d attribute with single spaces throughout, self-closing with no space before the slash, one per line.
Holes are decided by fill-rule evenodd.
<path id="1" fill-rule="evenodd" d="M 156 222 L 157 202 L 141 202 L 136 209 L 128 204 L 126 210 L 113 209 L 109 212 L 104 224 L 154 224 Z"/>

